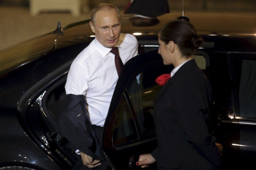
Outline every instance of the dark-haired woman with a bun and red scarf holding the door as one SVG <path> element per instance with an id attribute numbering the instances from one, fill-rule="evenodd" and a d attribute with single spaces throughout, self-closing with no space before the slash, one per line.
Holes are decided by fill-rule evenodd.
<path id="1" fill-rule="evenodd" d="M 157 162 L 158 169 L 218 169 L 221 156 L 211 135 L 212 89 L 193 59 L 203 40 L 184 20 L 167 23 L 159 32 L 163 64 L 174 65 L 171 78 L 158 93 L 154 121 L 158 147 L 139 156 L 141 168 Z"/>

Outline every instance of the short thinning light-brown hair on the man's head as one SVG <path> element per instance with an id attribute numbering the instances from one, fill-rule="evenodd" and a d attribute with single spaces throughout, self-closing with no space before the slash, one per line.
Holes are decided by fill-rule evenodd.
<path id="1" fill-rule="evenodd" d="M 94 24 L 95 21 L 95 16 L 96 13 L 100 10 L 111 10 L 111 9 L 115 9 L 117 11 L 117 16 L 118 16 L 118 20 L 119 22 L 121 21 L 121 14 L 119 9 L 114 6 L 111 3 L 100 3 L 99 5 L 97 5 L 92 11 L 91 11 L 91 22 Z"/>

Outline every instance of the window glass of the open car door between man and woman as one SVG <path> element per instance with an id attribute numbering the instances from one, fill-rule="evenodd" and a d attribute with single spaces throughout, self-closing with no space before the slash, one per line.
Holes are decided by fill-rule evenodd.
<path id="1" fill-rule="evenodd" d="M 209 57 L 204 53 L 194 56 L 198 66 L 206 71 Z M 170 73 L 173 65 L 162 61 L 144 66 L 127 83 L 126 93 L 120 100 L 113 132 L 113 144 L 120 146 L 155 137 L 154 100 L 162 86 L 155 79 Z"/>

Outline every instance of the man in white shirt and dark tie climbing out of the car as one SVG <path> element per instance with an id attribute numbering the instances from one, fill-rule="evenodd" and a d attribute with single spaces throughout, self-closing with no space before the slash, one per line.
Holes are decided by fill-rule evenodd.
<path id="1" fill-rule="evenodd" d="M 120 20 L 120 12 L 112 4 L 101 3 L 91 11 L 90 26 L 96 38 L 71 64 L 65 85 L 66 94 L 86 97 L 90 120 L 94 128 L 97 128 L 95 133 L 100 145 L 103 134 L 101 127 L 104 125 L 118 80 L 115 55 L 110 51 L 113 47 L 118 47 L 123 64 L 138 53 L 136 38 L 130 34 L 120 34 Z M 88 168 L 101 167 L 101 161 L 93 160 L 86 153 L 80 154 L 83 164 Z"/>

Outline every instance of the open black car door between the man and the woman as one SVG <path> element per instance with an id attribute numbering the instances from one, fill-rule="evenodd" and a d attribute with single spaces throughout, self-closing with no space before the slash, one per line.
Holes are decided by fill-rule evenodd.
<path id="1" fill-rule="evenodd" d="M 114 169 L 139 169 L 138 156 L 157 147 L 153 110 L 162 88 L 155 79 L 170 73 L 157 50 L 129 60 L 120 74 L 104 125 L 103 150 Z M 156 169 L 156 164 L 147 169 Z"/>

